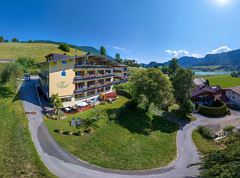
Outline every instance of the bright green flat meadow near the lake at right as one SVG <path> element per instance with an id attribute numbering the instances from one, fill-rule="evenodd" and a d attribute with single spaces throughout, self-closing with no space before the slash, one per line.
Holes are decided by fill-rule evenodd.
<path id="1" fill-rule="evenodd" d="M 222 88 L 240 86 L 240 78 L 230 75 L 216 75 L 206 77 L 211 85 L 219 85 Z"/>

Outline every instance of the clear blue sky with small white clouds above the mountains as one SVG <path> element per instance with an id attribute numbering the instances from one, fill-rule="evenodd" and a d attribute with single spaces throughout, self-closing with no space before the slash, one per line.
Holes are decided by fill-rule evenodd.
<path id="1" fill-rule="evenodd" d="M 3 0 L 0 36 L 104 45 L 112 56 L 163 62 L 239 49 L 239 9 L 239 0 Z"/>

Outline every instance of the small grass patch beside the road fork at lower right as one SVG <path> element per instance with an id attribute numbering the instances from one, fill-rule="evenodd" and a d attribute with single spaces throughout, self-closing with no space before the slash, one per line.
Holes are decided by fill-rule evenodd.
<path id="1" fill-rule="evenodd" d="M 221 149 L 221 147 L 214 143 L 213 141 L 202 137 L 197 130 L 193 131 L 192 138 L 198 151 L 200 151 L 203 154 L 209 153 L 210 151 Z"/>

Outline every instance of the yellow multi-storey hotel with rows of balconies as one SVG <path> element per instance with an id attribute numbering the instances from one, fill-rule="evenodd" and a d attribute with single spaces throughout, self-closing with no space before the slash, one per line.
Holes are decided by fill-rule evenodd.
<path id="1" fill-rule="evenodd" d="M 49 54 L 39 77 L 45 95 L 58 94 L 68 107 L 112 92 L 114 84 L 128 81 L 128 68 L 99 55 Z"/>

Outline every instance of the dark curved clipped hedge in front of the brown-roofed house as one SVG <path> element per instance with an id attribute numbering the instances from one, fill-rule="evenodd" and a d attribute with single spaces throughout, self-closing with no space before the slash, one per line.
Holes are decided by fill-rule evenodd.
<path id="1" fill-rule="evenodd" d="M 221 102 L 221 106 L 219 107 L 207 107 L 207 106 L 199 106 L 199 113 L 203 115 L 207 115 L 210 117 L 220 117 L 225 116 L 227 114 L 227 105 Z"/>

